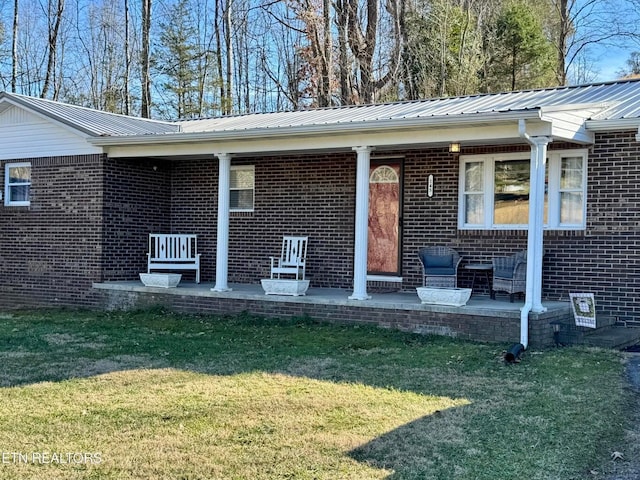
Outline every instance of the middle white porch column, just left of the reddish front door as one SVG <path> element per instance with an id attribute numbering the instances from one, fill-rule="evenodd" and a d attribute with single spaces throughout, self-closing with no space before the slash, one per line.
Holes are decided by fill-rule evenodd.
<path id="1" fill-rule="evenodd" d="M 353 253 L 353 295 L 350 300 L 368 300 L 367 246 L 369 241 L 369 167 L 372 147 L 353 147 L 358 155 L 356 169 L 356 223 Z"/>

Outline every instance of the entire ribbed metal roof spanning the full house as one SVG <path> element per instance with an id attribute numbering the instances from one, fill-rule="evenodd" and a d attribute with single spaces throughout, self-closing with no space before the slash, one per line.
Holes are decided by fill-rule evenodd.
<path id="1" fill-rule="evenodd" d="M 445 97 L 429 100 L 397 102 L 377 105 L 321 108 L 313 110 L 256 113 L 180 122 L 163 122 L 128 117 L 77 107 L 51 100 L 0 93 L 2 100 L 32 109 L 54 118 L 72 128 L 96 137 L 126 137 L 181 133 L 247 132 L 251 130 L 279 130 L 314 127 L 350 126 L 363 129 L 367 124 L 399 122 L 403 120 L 445 119 L 472 121 L 475 117 L 490 116 L 498 120 L 501 114 L 555 110 L 579 110 L 585 106 L 597 111 L 591 120 L 640 120 L 640 80 L 619 80 L 569 87 L 523 90 L 496 94 Z M 594 107 L 597 107 L 594 110 Z"/>

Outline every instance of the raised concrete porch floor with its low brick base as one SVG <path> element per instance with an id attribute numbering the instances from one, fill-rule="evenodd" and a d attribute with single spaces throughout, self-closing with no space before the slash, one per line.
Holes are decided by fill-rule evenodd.
<path id="1" fill-rule="evenodd" d="M 523 300 L 507 295 L 492 300 L 472 295 L 465 306 L 422 304 L 415 290 L 370 293 L 370 300 L 350 300 L 352 292 L 310 287 L 306 296 L 265 295 L 259 284 L 230 284 L 231 291 L 212 292 L 212 283 L 181 282 L 176 288 L 145 287 L 140 281 L 95 283 L 107 309 L 165 305 L 201 313 L 251 312 L 271 317 L 308 315 L 317 320 L 376 324 L 418 333 L 478 341 L 517 342 Z M 529 314 L 531 345 L 553 343 L 550 322 L 571 317 L 569 302 L 543 301 L 544 313 Z"/>

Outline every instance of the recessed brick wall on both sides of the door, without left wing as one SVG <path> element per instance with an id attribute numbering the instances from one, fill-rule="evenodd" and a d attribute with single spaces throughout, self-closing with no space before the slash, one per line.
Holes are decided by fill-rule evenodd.
<path id="1" fill-rule="evenodd" d="M 587 230 L 545 232 L 543 267 L 545 298 L 566 300 L 570 291 L 594 292 L 599 311 L 627 322 L 640 322 L 635 301 L 640 293 L 640 220 L 634 215 L 640 212 L 640 157 L 634 135 L 597 136 L 588 160 Z M 526 146 L 503 146 L 464 153 L 514 150 L 529 151 Z M 490 262 L 493 256 L 526 248 L 525 231 L 457 229 L 459 165 L 446 149 L 384 155 L 404 158 L 402 288 L 420 285 L 417 251 L 424 245 L 452 245 L 467 262 Z M 232 163 L 254 165 L 256 187 L 255 211 L 231 215 L 229 281 L 256 283 L 268 275 L 268 257 L 279 252 L 282 235 L 305 234 L 310 236 L 307 271 L 312 285 L 350 288 L 355 154 L 234 158 Z M 180 161 L 172 176 L 172 228 L 201 235 L 203 279 L 209 281 L 215 271 L 217 168 L 215 160 Z M 468 284 L 469 273 L 461 270 L 459 281 Z"/>

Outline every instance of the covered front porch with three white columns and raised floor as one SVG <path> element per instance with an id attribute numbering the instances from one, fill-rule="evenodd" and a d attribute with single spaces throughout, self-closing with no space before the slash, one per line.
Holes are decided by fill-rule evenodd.
<path id="1" fill-rule="evenodd" d="M 132 135 L 92 140 L 104 148 L 112 161 L 158 160 L 178 165 L 176 170 L 185 165 L 178 172 L 181 182 L 173 177 L 167 182 L 172 197 L 167 209 L 169 228 L 173 232 L 198 233 L 202 238 L 194 227 L 198 225 L 208 242 L 208 256 L 215 257 L 211 272 L 205 272 L 205 279 L 215 277 L 210 284 L 185 285 L 170 292 L 145 290 L 137 281 L 98 284 L 106 306 L 164 303 L 196 311 L 309 315 L 321 320 L 374 323 L 474 340 L 519 339 L 525 347 L 530 342 L 551 343 L 550 322 L 567 317 L 569 306 L 561 302 L 543 304 L 547 148 L 551 142 L 571 150 L 592 144 L 593 135 L 585 130 L 584 119 L 598 107 L 574 105 L 569 115 L 568 107 L 555 104 L 543 108 L 514 103 L 486 109 L 475 105 L 477 100 L 481 99 L 465 99 L 470 103 L 469 110 L 453 105 L 451 110 L 439 110 L 430 104 L 428 107 L 436 110 L 427 108 L 416 114 L 415 105 L 386 105 L 367 107 L 358 121 L 353 120 L 352 110 L 332 110 L 314 112 L 299 120 L 261 117 L 264 123 L 248 130 L 233 121 L 228 125 L 216 123 L 219 121 L 190 122 L 181 125 L 182 131 L 162 137 Z M 327 113 L 330 119 L 326 118 Z M 456 151 L 448 148 L 454 143 L 458 145 Z M 526 159 L 527 218 L 506 222 L 508 229 L 496 229 L 492 222 L 461 220 L 459 212 L 466 211 L 464 202 L 468 199 L 460 195 L 466 191 L 460 180 L 465 178 L 460 145 L 466 154 L 490 152 L 495 156 L 514 151 Z M 387 273 L 385 269 L 369 268 L 371 168 L 388 158 L 402 158 L 404 165 L 403 181 L 397 182 L 403 197 L 394 245 L 398 247 L 394 254 L 398 266 L 390 270 L 391 278 L 378 280 L 395 282 L 401 289 L 417 285 L 412 262 L 415 252 L 427 244 L 459 246 L 461 251 L 471 253 L 469 261 L 482 263 L 501 251 L 525 249 L 524 302 L 509 304 L 474 297 L 464 307 L 433 306 L 421 304 L 415 290 L 393 294 L 370 290 L 371 271 Z M 250 204 L 239 210 L 231 205 L 231 190 L 237 189 L 232 173 L 238 167 L 248 167 L 253 175 L 248 189 Z M 153 168 L 156 171 L 155 165 Z M 164 170 L 160 168 L 161 172 Z M 486 170 L 490 170 L 489 163 Z M 205 174 L 210 181 L 200 185 L 202 190 L 197 195 L 194 178 Z M 256 183 L 260 188 L 255 187 Z M 491 199 L 492 191 L 487 186 L 486 193 L 473 190 L 469 195 L 475 195 L 475 200 Z M 210 208 L 197 204 L 199 209 L 194 209 L 194 199 L 195 204 L 207 199 Z M 292 210 L 291 205 L 297 210 Z M 491 211 L 488 200 L 482 201 L 482 208 Z M 207 223 L 209 218 L 211 222 Z M 309 270 L 314 280 L 318 285 L 340 286 L 342 290 L 312 288 L 308 296 L 301 298 L 265 297 L 255 282 L 265 277 L 259 263 L 268 255 L 264 250 L 276 251 L 267 245 L 273 243 L 276 233 L 268 231 L 265 235 L 272 225 L 277 226 L 278 235 L 286 232 L 313 238 L 316 250 Z M 487 233 L 504 235 L 504 239 L 487 240 Z M 491 250 L 482 250 L 478 240 L 490 242 Z M 124 249 L 114 242 L 113 250 L 118 254 L 113 258 L 120 258 Z M 345 290 L 346 286 L 350 291 Z"/>

